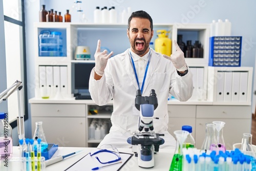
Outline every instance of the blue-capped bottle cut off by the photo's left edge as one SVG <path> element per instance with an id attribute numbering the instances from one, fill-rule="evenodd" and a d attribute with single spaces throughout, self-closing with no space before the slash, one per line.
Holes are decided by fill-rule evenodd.
<path id="1" fill-rule="evenodd" d="M 0 159 L 12 155 L 12 127 L 8 123 L 8 114 L 0 113 Z"/>

